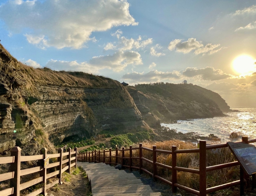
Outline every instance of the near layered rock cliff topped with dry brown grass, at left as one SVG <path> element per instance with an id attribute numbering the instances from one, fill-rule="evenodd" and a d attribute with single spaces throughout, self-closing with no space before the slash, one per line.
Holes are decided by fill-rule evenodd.
<path id="1" fill-rule="evenodd" d="M 127 90 L 109 78 L 34 69 L 1 44 L 0 77 L 0 153 L 19 145 L 33 154 L 53 150 L 51 142 L 145 125 Z"/>

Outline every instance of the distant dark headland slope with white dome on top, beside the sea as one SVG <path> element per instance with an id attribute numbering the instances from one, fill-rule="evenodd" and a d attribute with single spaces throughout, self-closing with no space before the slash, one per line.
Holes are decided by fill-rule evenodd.
<path id="1" fill-rule="evenodd" d="M 143 119 L 151 126 L 158 122 L 210 118 L 230 111 L 221 96 L 192 84 L 139 84 L 128 87 Z"/>

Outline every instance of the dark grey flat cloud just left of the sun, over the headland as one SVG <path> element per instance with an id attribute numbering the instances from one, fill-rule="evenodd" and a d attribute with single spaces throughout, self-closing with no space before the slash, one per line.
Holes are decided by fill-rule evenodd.
<path id="1" fill-rule="evenodd" d="M 187 77 L 195 77 L 200 76 L 203 80 L 222 80 L 226 78 L 231 78 L 232 75 L 223 73 L 222 70 L 217 69 L 215 70 L 213 67 L 206 67 L 206 68 L 191 68 L 188 67 L 183 71 L 183 75 Z"/>

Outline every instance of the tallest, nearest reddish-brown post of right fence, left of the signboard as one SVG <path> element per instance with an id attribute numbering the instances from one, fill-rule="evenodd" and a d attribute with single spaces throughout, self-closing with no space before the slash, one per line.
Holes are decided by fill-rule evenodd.
<path id="1" fill-rule="evenodd" d="M 206 196 L 206 141 L 199 141 L 199 192 Z"/>

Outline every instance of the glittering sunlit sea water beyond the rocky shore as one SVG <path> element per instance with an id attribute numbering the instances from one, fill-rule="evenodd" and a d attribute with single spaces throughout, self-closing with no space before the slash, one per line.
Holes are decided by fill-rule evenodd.
<path id="1" fill-rule="evenodd" d="M 214 117 L 207 119 L 193 119 L 189 121 L 178 121 L 174 124 L 162 123 L 162 126 L 175 129 L 177 132 L 198 132 L 203 136 L 214 134 L 221 138 L 221 143 L 230 140 L 230 134 L 236 132 L 241 140 L 242 136 L 249 139 L 256 138 L 256 107 L 232 107 L 232 110 L 240 112 L 224 113 L 224 117 Z"/>

